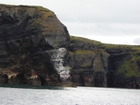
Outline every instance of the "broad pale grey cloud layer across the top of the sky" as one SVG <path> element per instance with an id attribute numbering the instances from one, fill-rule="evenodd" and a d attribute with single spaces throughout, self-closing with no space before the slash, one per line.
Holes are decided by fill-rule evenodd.
<path id="1" fill-rule="evenodd" d="M 54 11 L 62 22 L 140 24 L 140 0 L 1 0 L 1 3 L 41 5 Z"/>

